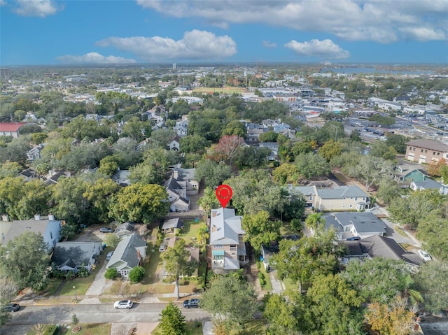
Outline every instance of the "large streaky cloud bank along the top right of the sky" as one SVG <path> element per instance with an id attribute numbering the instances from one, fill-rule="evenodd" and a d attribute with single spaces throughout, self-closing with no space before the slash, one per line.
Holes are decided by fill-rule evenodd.
<path id="1" fill-rule="evenodd" d="M 448 36 L 447 0 L 137 0 L 137 3 L 173 17 L 201 17 L 219 27 L 232 23 L 269 24 L 298 31 L 330 32 L 349 41 L 393 43 L 400 39 L 430 41 Z M 414 34 L 409 32 L 412 29 Z M 421 29 L 427 29 L 426 33 Z M 429 34 L 430 31 L 434 33 Z"/>

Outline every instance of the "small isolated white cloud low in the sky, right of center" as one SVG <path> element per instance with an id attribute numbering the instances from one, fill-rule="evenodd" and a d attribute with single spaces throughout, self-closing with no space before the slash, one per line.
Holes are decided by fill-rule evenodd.
<path id="1" fill-rule="evenodd" d="M 306 42 L 290 41 L 286 48 L 293 50 L 296 55 L 305 57 L 319 57 L 323 59 L 344 59 L 350 57 L 350 53 L 331 40 L 311 40 Z"/>

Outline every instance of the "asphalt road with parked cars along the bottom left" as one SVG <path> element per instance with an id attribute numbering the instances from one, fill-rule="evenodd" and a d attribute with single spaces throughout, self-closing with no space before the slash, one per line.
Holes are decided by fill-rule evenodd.
<path id="1" fill-rule="evenodd" d="M 130 310 L 115 309 L 113 304 L 20 306 L 20 311 L 12 313 L 8 325 L 69 324 L 73 314 L 76 314 L 80 323 L 157 322 L 160 319 L 160 311 L 165 306 L 167 303 L 136 303 Z M 177 306 L 181 308 L 187 320 L 210 320 L 209 313 L 200 308 L 186 309 L 181 303 Z"/>

